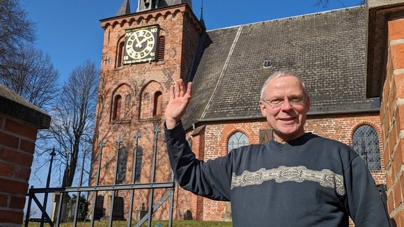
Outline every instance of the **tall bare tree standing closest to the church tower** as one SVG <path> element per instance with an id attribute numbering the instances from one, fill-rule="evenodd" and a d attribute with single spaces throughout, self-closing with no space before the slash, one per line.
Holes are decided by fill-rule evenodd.
<path id="1" fill-rule="evenodd" d="M 94 63 L 86 61 L 79 65 L 70 73 L 52 107 L 49 136 L 59 146 L 56 148 L 59 163 L 68 164 L 63 173 L 65 187 L 71 186 L 75 179 L 77 160 L 83 147 L 90 149 L 92 145 L 98 75 Z M 66 151 L 70 152 L 69 158 Z"/>

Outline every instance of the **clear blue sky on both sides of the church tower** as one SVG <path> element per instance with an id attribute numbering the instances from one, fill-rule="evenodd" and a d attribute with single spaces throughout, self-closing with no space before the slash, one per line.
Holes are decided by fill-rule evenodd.
<path id="1" fill-rule="evenodd" d="M 114 17 L 123 0 L 20 0 L 28 18 L 36 23 L 38 49 L 49 54 L 65 81 L 77 65 L 89 59 L 99 68 L 102 51 L 100 19 Z M 357 6 L 360 0 L 329 0 L 327 8 L 318 0 L 203 1 L 203 18 L 208 30 L 293 17 L 337 8 Z M 201 0 L 192 1 L 196 17 Z M 137 1 L 130 1 L 134 13 Z"/>

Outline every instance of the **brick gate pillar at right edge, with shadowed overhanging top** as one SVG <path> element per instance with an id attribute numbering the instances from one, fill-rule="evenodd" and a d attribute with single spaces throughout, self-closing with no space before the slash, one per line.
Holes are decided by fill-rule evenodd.
<path id="1" fill-rule="evenodd" d="M 404 226 L 404 0 L 368 0 L 366 97 L 380 97 L 387 208 Z"/>

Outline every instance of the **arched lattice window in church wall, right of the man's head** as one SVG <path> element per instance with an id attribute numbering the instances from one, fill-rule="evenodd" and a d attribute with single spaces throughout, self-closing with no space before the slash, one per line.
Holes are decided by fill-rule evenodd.
<path id="1" fill-rule="evenodd" d="M 368 169 L 380 171 L 380 147 L 378 132 L 370 125 L 358 127 L 352 137 L 353 149 L 365 160 Z"/>

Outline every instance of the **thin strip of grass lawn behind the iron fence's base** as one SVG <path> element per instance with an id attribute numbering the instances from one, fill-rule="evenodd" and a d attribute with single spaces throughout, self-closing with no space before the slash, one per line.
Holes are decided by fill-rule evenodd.
<path id="1" fill-rule="evenodd" d="M 136 223 L 132 222 L 132 226 L 134 226 Z M 166 227 L 169 226 L 169 221 L 153 221 L 152 227 Z M 61 227 L 70 227 L 72 226 L 72 223 L 63 223 L 60 226 Z M 24 225 L 23 225 L 24 226 Z M 29 227 L 36 227 L 40 226 L 39 223 L 29 223 Z M 45 224 L 45 226 L 49 226 L 48 224 Z M 77 223 L 78 227 L 84 227 L 84 226 L 90 226 L 90 222 L 79 222 Z M 108 227 L 108 221 L 95 221 L 94 226 L 97 227 Z M 127 221 L 114 221 L 112 223 L 112 226 L 114 227 L 126 227 L 127 226 Z M 147 222 L 143 224 L 144 227 L 147 226 Z M 173 226 L 174 227 L 210 227 L 210 226 L 224 226 L 224 227 L 231 227 L 233 226 L 231 222 L 224 222 L 224 221 L 173 221 Z"/>

